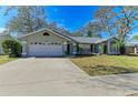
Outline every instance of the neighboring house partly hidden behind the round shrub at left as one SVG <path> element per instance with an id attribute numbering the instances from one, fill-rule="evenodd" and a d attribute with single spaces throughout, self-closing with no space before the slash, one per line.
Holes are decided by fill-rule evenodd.
<path id="1" fill-rule="evenodd" d="M 0 54 L 4 54 L 3 49 L 2 49 L 2 42 L 9 39 L 11 39 L 11 35 L 0 33 Z"/>

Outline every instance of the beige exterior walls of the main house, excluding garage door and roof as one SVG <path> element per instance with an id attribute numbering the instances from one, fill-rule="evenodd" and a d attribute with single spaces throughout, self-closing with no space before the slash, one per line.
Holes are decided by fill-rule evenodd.
<path id="1" fill-rule="evenodd" d="M 70 44 L 70 54 L 91 54 L 91 53 L 101 53 L 100 45 L 106 45 L 107 50 L 105 53 L 107 54 L 119 54 L 119 50 L 115 45 L 114 41 L 115 39 L 109 39 L 106 42 L 101 42 L 98 44 L 92 44 L 92 51 L 91 51 L 91 44 L 78 44 L 73 41 L 68 41 L 67 39 L 60 38 L 59 35 L 56 35 L 51 32 L 48 32 L 50 35 L 43 35 L 45 32 L 42 31 L 36 34 L 31 34 L 28 37 L 24 37 L 21 39 L 22 42 L 22 55 L 28 56 L 29 54 L 29 44 L 31 42 L 58 42 L 62 44 L 62 55 L 67 54 L 67 44 Z M 79 47 L 79 49 L 78 49 Z M 82 49 L 82 50 L 81 50 Z"/>

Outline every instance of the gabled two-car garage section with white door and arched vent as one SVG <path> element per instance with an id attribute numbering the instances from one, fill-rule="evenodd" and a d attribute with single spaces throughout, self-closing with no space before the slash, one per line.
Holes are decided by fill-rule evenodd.
<path id="1" fill-rule="evenodd" d="M 67 39 L 49 30 L 43 30 L 21 37 L 23 56 L 62 56 L 63 42 Z"/>

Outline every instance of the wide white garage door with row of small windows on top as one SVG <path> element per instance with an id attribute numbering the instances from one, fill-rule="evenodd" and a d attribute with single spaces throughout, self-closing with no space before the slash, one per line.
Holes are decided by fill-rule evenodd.
<path id="1" fill-rule="evenodd" d="M 62 44 L 31 42 L 29 44 L 29 55 L 30 56 L 61 56 Z"/>

